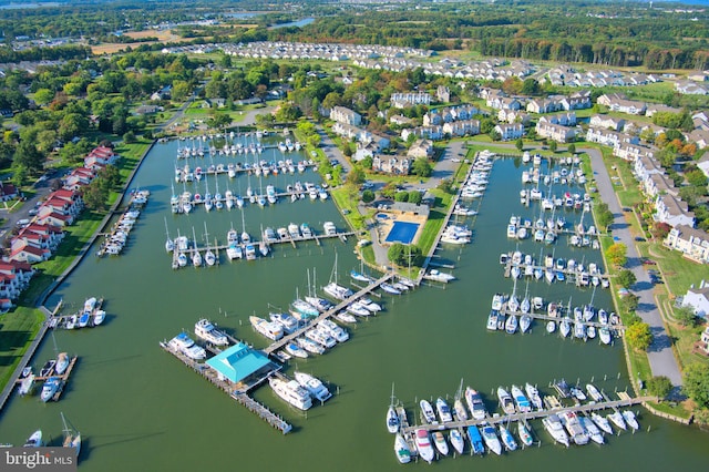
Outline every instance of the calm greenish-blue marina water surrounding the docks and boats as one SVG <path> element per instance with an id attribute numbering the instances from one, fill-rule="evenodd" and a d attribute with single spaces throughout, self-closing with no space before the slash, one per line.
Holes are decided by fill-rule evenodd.
<path id="1" fill-rule="evenodd" d="M 266 315 L 269 304 L 285 308 L 297 290 L 304 294 L 308 269 L 315 268 L 318 286 L 326 284 L 336 254 L 342 275 L 358 267 L 353 242 L 330 240 L 320 247 L 300 244 L 297 249 L 277 247 L 273 257 L 248 264 L 230 264 L 222 255 L 219 267 L 173 271 L 163 247 L 164 218 L 172 236 L 177 229 L 191 235 L 194 227 L 199 240 L 205 222 L 209 238 L 222 242 L 232 225 L 242 228 L 242 214 L 237 211 L 206 214 L 198 209 L 189 216 L 169 213 L 175 151 L 176 143 L 156 145 L 138 172 L 136 183 L 153 195 L 130 236 L 125 255 L 88 257 L 52 297 L 52 302 L 63 298 L 69 310 L 80 307 L 86 297 L 103 296 L 111 316 L 104 326 L 93 330 L 56 332 L 60 350 L 81 356 L 66 391 L 58 403 L 43 404 L 37 397 L 12 399 L 0 418 L 2 442 L 22 443 L 38 428 L 59 442 L 63 411 L 82 432 L 81 469 L 88 471 L 228 466 L 399 470 L 392 437 L 383 422 L 392 382 L 410 417 L 418 399 L 452 397 L 461 378 L 465 384 L 486 392 L 491 408 L 491 391 L 513 382 L 530 381 L 548 390 L 545 386 L 562 377 L 569 382 L 593 378 L 607 391 L 626 388 L 619 346 L 563 340 L 546 335 L 541 325 L 534 325 L 526 336 L 485 330 L 492 295 L 512 291 L 512 283 L 504 279 L 497 264 L 501 252 L 515 248 L 505 238 L 505 223 L 513 212 L 530 218 L 538 212 L 520 206 L 520 163 L 504 161 L 496 163 L 492 173 L 475 223 L 474 243 L 463 250 L 441 253 L 455 263 L 458 281 L 445 289 L 424 287 L 399 298 L 384 297 L 387 311 L 359 324 L 351 330 L 350 341 L 326 356 L 294 365 L 330 382 L 338 396 L 325 407 L 311 409 L 306 418 L 267 387 L 255 392 L 259 401 L 295 425 L 294 433 L 280 435 L 162 351 L 157 343 L 183 328 L 192 330 L 198 318 L 209 317 L 236 337 L 265 347 L 266 341 L 248 326 L 248 316 Z M 299 178 L 315 181 L 316 176 L 308 172 Z M 270 176 L 264 178 L 263 185 L 267 183 L 284 188 L 287 178 Z M 204 183 L 201 185 L 204 187 Z M 214 193 L 214 181 L 208 185 Z M 240 177 L 240 183 L 233 181 L 229 185 L 237 192 L 248 183 Z M 259 183 L 251 177 L 251 185 Z M 225 192 L 226 187 L 225 176 L 219 189 Z M 322 222 L 332 220 L 345 228 L 330 202 L 282 202 L 263 209 L 248 207 L 244 215 L 251 235 L 258 234 L 261 224 L 285 226 L 290 222 L 308 222 L 314 228 L 321 228 Z M 520 246 L 535 255 L 540 248 L 530 242 Z M 576 259 L 600 261 L 596 252 L 572 250 L 564 243 L 558 243 L 555 250 L 561 257 L 573 254 Z M 520 284 L 517 293 L 523 294 L 525 288 Z M 593 296 L 592 290 L 543 283 L 532 283 L 528 290 L 547 299 L 567 301 L 572 296 L 577 305 L 588 302 Z M 598 290 L 594 302 L 608 308 L 610 299 Z M 34 365 L 53 357 L 54 350 L 52 337 L 48 337 Z M 595 471 L 613 464 L 615 470 L 659 471 L 681 461 L 687 468 L 703 470 L 709 459 L 706 433 L 649 414 L 641 414 L 640 421 L 644 430 L 639 433 L 610 438 L 603 448 L 589 444 L 568 450 L 554 445 L 541 424 L 533 423 L 542 439 L 541 448 L 502 458 L 449 458 L 435 466 L 454 471 L 484 464 L 486 470 L 546 471 L 564 464 L 578 471 Z"/>

